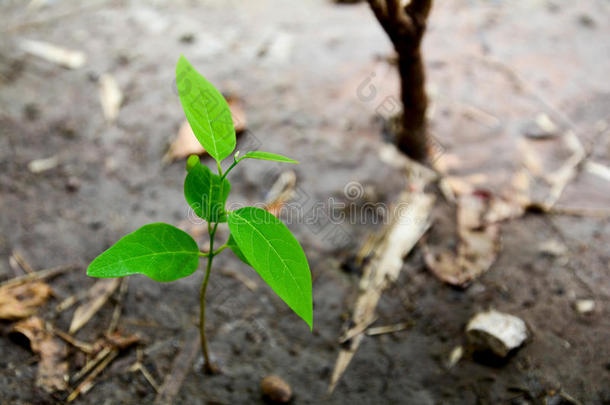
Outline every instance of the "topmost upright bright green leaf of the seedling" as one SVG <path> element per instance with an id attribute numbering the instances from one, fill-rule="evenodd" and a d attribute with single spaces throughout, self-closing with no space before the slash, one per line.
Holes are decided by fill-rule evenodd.
<path id="1" fill-rule="evenodd" d="M 220 162 L 235 149 L 235 128 L 227 101 L 184 56 L 176 65 L 176 86 L 195 137 Z"/>

